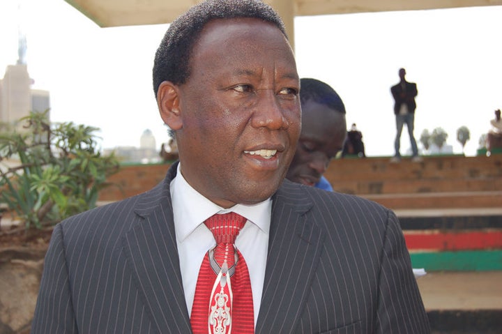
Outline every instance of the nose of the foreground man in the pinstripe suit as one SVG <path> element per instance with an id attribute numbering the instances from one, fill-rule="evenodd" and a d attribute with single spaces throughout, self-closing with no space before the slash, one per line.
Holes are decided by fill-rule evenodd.
<path id="1" fill-rule="evenodd" d="M 289 121 L 284 116 L 280 101 L 272 89 L 259 91 L 259 103 L 253 112 L 251 124 L 254 128 L 270 130 L 287 129 Z"/>

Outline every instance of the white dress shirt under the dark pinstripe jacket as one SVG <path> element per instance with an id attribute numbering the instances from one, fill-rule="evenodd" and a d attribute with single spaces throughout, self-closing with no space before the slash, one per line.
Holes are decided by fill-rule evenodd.
<path id="1" fill-rule="evenodd" d="M 171 198 L 188 314 L 192 312 L 202 259 L 206 252 L 216 245 L 213 234 L 204 225 L 204 220 L 215 213 L 231 211 L 248 219 L 236 238 L 236 247 L 241 251 L 250 272 L 254 326 L 256 326 L 265 278 L 268 231 L 272 212 L 271 199 L 255 205 L 236 204 L 231 208 L 221 208 L 188 184 L 181 175 L 181 164 L 178 165 L 178 174 L 171 181 Z"/>

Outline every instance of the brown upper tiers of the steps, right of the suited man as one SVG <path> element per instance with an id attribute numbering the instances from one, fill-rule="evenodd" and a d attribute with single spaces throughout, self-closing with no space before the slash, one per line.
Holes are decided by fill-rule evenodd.
<path id="1" fill-rule="evenodd" d="M 502 155 L 333 160 L 325 173 L 333 188 L 393 210 L 502 207 Z"/>

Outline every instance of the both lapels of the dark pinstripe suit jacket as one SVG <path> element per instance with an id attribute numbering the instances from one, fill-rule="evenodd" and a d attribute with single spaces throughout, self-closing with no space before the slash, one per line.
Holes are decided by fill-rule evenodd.
<path id="1" fill-rule="evenodd" d="M 123 251 L 139 294 L 158 333 L 191 333 L 176 248 L 169 183 L 142 195 L 137 223 L 123 240 Z M 308 219 L 313 203 L 301 186 L 287 180 L 273 197 L 268 259 L 255 333 L 292 333 L 303 313 L 324 242 Z"/>

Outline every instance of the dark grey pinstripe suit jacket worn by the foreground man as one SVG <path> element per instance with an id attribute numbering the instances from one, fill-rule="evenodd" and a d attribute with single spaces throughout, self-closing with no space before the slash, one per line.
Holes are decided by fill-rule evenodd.
<path id="1" fill-rule="evenodd" d="M 32 333 L 190 333 L 169 183 L 54 229 Z M 395 215 L 284 181 L 256 333 L 429 333 Z"/>

